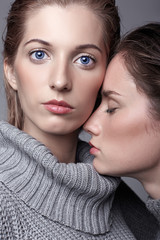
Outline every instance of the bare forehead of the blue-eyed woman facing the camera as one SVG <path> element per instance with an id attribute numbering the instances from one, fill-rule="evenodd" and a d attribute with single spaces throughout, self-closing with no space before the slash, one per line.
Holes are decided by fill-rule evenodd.
<path id="1" fill-rule="evenodd" d="M 96 33 L 96 34 L 95 34 Z M 103 41 L 102 23 L 89 8 L 78 4 L 45 6 L 29 14 L 24 37 L 53 38 L 58 41 Z"/>

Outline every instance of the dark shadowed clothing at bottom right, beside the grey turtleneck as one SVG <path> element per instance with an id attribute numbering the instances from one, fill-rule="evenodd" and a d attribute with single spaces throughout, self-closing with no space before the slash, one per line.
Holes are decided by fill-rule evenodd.
<path id="1" fill-rule="evenodd" d="M 116 205 L 119 205 L 119 208 Z M 125 220 L 130 230 L 134 233 L 136 239 L 160 240 L 160 225 L 157 221 L 158 214 L 156 218 L 152 214 L 153 206 L 147 209 L 145 203 L 123 181 L 116 190 L 113 209 L 119 209 L 123 220 Z M 158 205 L 156 205 L 156 209 L 158 213 L 160 211 Z M 114 214 L 113 210 L 112 214 Z"/>

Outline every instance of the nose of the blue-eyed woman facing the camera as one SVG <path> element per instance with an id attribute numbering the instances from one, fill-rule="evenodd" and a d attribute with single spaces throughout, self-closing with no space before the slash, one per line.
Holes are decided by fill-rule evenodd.
<path id="1" fill-rule="evenodd" d="M 54 66 L 50 76 L 49 86 L 57 91 L 70 91 L 72 88 L 71 74 L 67 64 L 59 63 Z"/>

